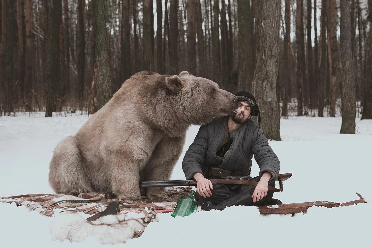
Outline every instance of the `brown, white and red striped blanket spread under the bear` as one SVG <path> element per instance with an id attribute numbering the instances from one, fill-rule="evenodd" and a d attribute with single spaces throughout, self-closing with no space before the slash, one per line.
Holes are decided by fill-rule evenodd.
<path id="1" fill-rule="evenodd" d="M 145 197 L 143 202 L 135 203 L 145 208 L 154 207 L 156 212 L 172 212 L 181 196 L 187 195 L 192 187 L 173 187 L 166 191 L 169 199 L 166 202 L 151 202 Z M 20 196 L 0 197 L 0 202 L 12 203 L 17 206 L 26 206 L 28 209 L 39 212 L 45 216 L 53 216 L 54 210 L 58 212 L 84 212 L 89 215 L 103 211 L 109 202 L 117 199 L 105 192 L 90 192 L 74 196 L 71 194 L 24 194 Z M 139 209 L 125 209 L 120 213 L 141 212 Z"/>

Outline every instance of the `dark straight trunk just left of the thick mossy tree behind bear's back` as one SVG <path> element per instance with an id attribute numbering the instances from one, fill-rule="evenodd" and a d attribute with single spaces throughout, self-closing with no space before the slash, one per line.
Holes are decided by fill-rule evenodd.
<path id="1" fill-rule="evenodd" d="M 84 68 L 85 68 L 85 0 L 77 1 L 77 31 L 76 31 L 76 56 L 78 97 L 80 109 L 84 101 Z"/>

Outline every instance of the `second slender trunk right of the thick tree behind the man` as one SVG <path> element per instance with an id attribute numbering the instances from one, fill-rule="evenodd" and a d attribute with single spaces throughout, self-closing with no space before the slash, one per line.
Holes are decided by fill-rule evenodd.
<path id="1" fill-rule="evenodd" d="M 296 67 L 296 80 L 297 80 L 297 115 L 301 116 L 303 114 L 303 97 L 302 97 L 302 49 L 301 49 L 301 26 L 302 19 L 302 0 L 296 1 L 296 50 L 297 50 L 297 67 Z"/>

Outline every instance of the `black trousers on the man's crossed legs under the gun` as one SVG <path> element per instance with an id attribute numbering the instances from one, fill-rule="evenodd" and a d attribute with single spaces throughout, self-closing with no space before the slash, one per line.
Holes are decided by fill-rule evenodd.
<path id="1" fill-rule="evenodd" d="M 252 181 L 260 181 L 260 176 L 253 177 Z M 222 178 L 221 178 L 222 179 Z M 221 209 L 229 206 L 265 206 L 273 197 L 273 191 L 268 190 L 266 196 L 264 196 L 258 202 L 253 202 L 251 197 L 256 186 L 252 185 L 238 185 L 237 184 L 221 184 L 221 183 L 212 183 L 213 190 L 212 196 L 204 198 L 200 196 L 197 192 L 195 194 L 195 199 L 198 204 L 202 204 L 205 201 L 210 201 L 214 206 L 218 206 Z M 269 184 L 272 187 L 275 187 L 275 181 Z"/>

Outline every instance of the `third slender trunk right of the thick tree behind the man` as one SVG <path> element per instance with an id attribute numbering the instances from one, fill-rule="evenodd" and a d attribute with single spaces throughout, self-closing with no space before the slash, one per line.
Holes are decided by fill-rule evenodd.
<path id="1" fill-rule="evenodd" d="M 314 0 L 316 1 L 316 0 Z M 313 61 L 312 61 L 312 42 L 311 42 L 311 10 L 312 4 L 311 0 L 307 0 L 307 71 L 308 71 L 308 86 L 309 86 L 309 107 L 314 108 L 314 71 L 313 71 Z"/>

